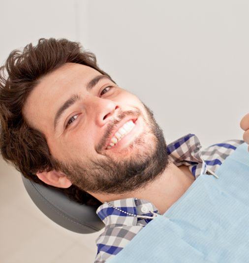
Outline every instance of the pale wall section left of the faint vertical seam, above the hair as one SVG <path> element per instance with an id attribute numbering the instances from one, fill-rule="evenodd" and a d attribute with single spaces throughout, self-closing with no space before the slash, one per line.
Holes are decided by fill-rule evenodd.
<path id="1" fill-rule="evenodd" d="M 87 1 L 4 0 L 0 5 L 0 63 L 10 51 L 36 43 L 41 37 L 88 41 Z M 87 21 L 87 20 L 86 20 Z"/>

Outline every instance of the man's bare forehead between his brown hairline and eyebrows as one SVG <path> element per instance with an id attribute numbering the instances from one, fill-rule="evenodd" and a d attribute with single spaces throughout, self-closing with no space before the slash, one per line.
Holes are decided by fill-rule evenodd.
<path id="1" fill-rule="evenodd" d="M 66 63 L 45 75 L 34 87 L 24 105 L 24 116 L 30 125 L 46 134 L 60 105 L 71 94 L 84 93 L 86 84 L 101 73 L 92 67 Z M 46 132 L 45 132 L 46 131 Z"/>

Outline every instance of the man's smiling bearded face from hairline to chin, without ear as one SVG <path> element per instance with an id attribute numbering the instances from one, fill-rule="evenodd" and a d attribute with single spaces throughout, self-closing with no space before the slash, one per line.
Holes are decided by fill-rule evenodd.
<path id="1" fill-rule="evenodd" d="M 87 192 L 125 193 L 166 168 L 166 144 L 152 111 L 103 76 L 89 66 L 64 64 L 40 79 L 24 115 L 45 134 L 74 185 Z M 111 140 L 118 142 L 110 147 Z"/>

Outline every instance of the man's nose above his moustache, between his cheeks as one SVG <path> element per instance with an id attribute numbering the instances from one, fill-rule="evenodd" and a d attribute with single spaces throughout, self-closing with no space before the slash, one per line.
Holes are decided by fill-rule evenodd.
<path id="1" fill-rule="evenodd" d="M 116 101 L 97 98 L 93 109 L 93 112 L 95 111 L 96 125 L 102 127 L 109 123 L 111 119 L 117 119 L 119 108 L 120 105 Z"/>

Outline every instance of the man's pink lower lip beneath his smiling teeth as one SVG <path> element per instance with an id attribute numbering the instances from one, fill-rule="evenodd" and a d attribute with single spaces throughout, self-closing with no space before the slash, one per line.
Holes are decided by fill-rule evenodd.
<path id="1" fill-rule="evenodd" d="M 140 118 L 138 118 L 135 122 L 135 126 L 132 130 L 127 133 L 120 141 L 118 141 L 112 148 L 106 149 L 110 150 L 119 150 L 120 148 L 127 147 L 136 137 L 138 137 L 143 131 L 143 126 L 141 124 Z"/>

